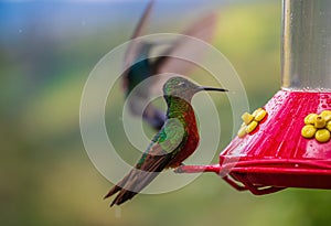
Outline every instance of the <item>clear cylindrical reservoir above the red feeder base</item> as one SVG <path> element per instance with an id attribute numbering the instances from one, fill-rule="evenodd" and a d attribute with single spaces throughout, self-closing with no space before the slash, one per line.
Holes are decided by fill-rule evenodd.
<path id="1" fill-rule="evenodd" d="M 331 90 L 331 1 L 282 1 L 282 88 Z"/>

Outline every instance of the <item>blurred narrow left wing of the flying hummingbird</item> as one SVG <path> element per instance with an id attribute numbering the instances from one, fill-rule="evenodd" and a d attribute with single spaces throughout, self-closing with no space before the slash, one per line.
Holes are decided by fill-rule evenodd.
<path id="1" fill-rule="evenodd" d="M 142 13 L 142 17 L 140 18 L 140 20 L 139 20 L 139 22 L 136 26 L 136 30 L 135 30 L 135 32 L 131 36 L 131 42 L 130 42 L 130 44 L 128 46 L 128 50 L 126 51 L 126 54 L 125 54 L 124 68 L 130 67 L 134 64 L 135 60 L 137 58 L 140 43 L 137 42 L 135 39 L 142 35 L 142 33 L 146 29 L 146 25 L 147 25 L 147 21 L 150 18 L 153 3 L 154 3 L 153 0 L 151 0 L 148 3 L 148 6 L 146 7 L 146 9 Z"/>

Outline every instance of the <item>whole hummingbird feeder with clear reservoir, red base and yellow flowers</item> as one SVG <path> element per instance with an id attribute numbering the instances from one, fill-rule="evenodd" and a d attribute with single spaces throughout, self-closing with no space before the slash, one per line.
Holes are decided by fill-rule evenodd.
<path id="1" fill-rule="evenodd" d="M 257 112 L 214 165 L 238 191 L 261 195 L 286 187 L 331 189 L 331 1 L 282 1 L 281 89 Z"/>

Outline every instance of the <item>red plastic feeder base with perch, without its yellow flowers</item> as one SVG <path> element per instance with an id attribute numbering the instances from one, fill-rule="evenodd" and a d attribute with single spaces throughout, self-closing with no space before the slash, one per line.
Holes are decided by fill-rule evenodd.
<path id="1" fill-rule="evenodd" d="M 331 109 L 331 93 L 278 92 L 253 133 L 234 140 L 220 164 L 186 165 L 179 172 L 215 172 L 238 191 L 261 195 L 286 187 L 331 189 L 331 140 L 301 136 L 308 114 Z"/>

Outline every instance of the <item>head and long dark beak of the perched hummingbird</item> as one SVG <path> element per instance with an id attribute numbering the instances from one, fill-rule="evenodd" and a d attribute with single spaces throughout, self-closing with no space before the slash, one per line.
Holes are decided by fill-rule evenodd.
<path id="1" fill-rule="evenodd" d="M 199 86 L 186 78 L 179 76 L 169 78 L 163 86 L 163 95 L 166 99 L 170 96 L 177 96 L 186 101 L 191 101 L 194 94 L 202 90 L 227 92 L 227 89 L 224 88 Z"/>

